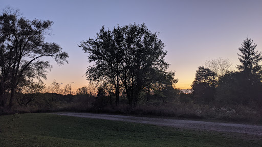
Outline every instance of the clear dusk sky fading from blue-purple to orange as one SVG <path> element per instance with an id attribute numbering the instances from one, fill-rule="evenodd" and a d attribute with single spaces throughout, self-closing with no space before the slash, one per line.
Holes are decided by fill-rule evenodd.
<path id="1" fill-rule="evenodd" d="M 159 32 L 165 44 L 168 71 L 176 71 L 177 88 L 190 88 L 199 66 L 206 61 L 229 59 L 232 67 L 240 64 L 238 48 L 247 38 L 262 51 L 261 0 L 181 0 L 181 1 L 12 1 L 0 0 L 5 7 L 18 8 L 27 19 L 51 20 L 51 36 L 47 42 L 60 44 L 69 54 L 69 64 L 59 66 L 50 59 L 53 68 L 45 83 L 54 80 L 73 90 L 86 86 L 85 71 L 90 65 L 88 54 L 78 47 L 81 41 L 94 38 L 99 29 L 113 29 L 136 22 L 145 23 L 151 32 Z"/>

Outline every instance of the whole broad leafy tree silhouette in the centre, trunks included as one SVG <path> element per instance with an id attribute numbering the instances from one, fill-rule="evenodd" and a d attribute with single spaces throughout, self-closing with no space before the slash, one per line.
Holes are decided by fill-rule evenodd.
<path id="1" fill-rule="evenodd" d="M 140 92 L 152 83 L 176 83 L 174 72 L 166 71 L 167 52 L 157 37 L 145 24 L 118 26 L 113 31 L 102 27 L 96 39 L 79 45 L 89 53 L 89 62 L 95 63 L 86 71 L 88 79 L 110 81 L 115 86 L 117 104 L 119 87 L 123 86 L 130 106 L 136 105 Z"/>

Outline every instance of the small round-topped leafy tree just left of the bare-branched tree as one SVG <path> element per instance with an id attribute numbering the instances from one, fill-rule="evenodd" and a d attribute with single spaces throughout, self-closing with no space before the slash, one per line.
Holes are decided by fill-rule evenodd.
<path id="1" fill-rule="evenodd" d="M 215 86 L 217 84 L 216 76 L 214 71 L 204 66 L 199 67 L 191 85 L 196 101 L 209 103 L 214 100 Z"/>

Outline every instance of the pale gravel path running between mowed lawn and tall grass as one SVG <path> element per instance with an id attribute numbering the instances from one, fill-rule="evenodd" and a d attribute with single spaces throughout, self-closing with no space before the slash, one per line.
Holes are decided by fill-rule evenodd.
<path id="1" fill-rule="evenodd" d="M 92 114 L 92 113 L 57 112 L 52 114 L 138 122 L 142 124 L 152 124 L 158 126 L 169 126 L 174 128 L 185 128 L 185 129 L 193 129 L 193 130 L 212 130 L 212 131 L 220 131 L 220 132 L 246 133 L 246 134 L 262 136 L 262 126 L 255 126 L 255 125 L 228 124 L 223 122 L 206 122 L 206 121 L 194 121 L 194 120 L 148 118 L 148 117 L 135 117 L 135 116 L 123 116 L 123 115 Z"/>

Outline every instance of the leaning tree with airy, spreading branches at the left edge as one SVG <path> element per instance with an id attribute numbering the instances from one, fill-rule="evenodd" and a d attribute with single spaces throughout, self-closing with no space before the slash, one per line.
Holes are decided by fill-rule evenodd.
<path id="1" fill-rule="evenodd" d="M 17 87 L 46 78 L 52 66 L 41 60 L 43 57 L 51 57 L 59 64 L 68 62 L 69 57 L 60 45 L 45 42 L 52 21 L 29 20 L 18 14 L 10 10 L 0 16 L 0 105 L 9 101 L 9 107 L 13 106 Z"/>

